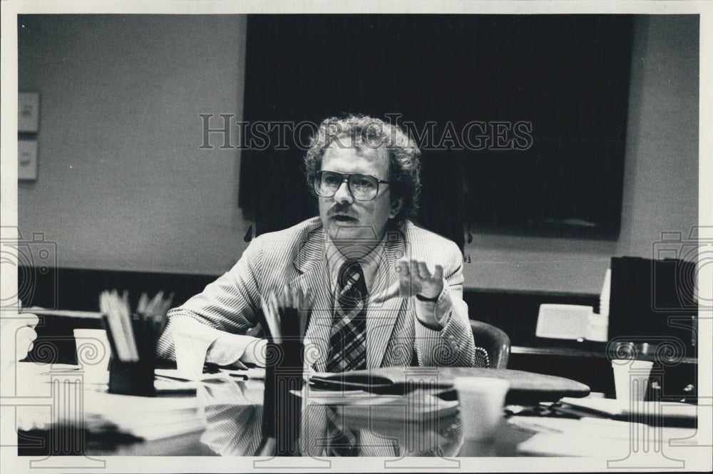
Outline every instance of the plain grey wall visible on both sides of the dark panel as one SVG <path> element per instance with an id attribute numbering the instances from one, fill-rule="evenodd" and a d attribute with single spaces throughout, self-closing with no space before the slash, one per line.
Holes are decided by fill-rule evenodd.
<path id="1" fill-rule="evenodd" d="M 25 235 L 59 264 L 217 274 L 240 256 L 237 150 L 199 150 L 199 113 L 242 111 L 245 18 L 29 19 L 19 86 L 42 94 Z M 33 34 L 26 34 L 24 31 Z M 39 34 L 36 34 L 39 33 Z M 635 21 L 622 232 L 615 242 L 475 235 L 468 287 L 600 291 L 612 256 L 651 257 L 697 222 L 698 19 Z"/>

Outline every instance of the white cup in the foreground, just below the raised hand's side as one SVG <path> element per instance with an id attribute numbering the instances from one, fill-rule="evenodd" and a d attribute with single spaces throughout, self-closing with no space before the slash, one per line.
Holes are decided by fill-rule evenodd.
<path id="1" fill-rule="evenodd" d="M 469 440 L 490 438 L 503 418 L 510 382 L 501 378 L 456 377 L 453 385 L 461 403 L 463 437 Z"/>

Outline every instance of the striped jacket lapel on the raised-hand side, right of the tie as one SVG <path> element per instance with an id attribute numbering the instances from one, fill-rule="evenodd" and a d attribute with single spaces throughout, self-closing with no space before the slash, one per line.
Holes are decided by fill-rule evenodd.
<path id="1" fill-rule="evenodd" d="M 386 236 L 384 254 L 386 254 L 386 261 L 379 265 L 379 269 L 376 271 L 374 284 L 371 285 L 371 297 L 386 292 L 392 285 L 399 282 L 396 261 L 405 254 L 404 237 L 400 232 L 399 234 L 391 232 Z M 382 304 L 369 304 L 369 317 L 366 318 L 366 366 L 369 369 L 381 366 L 396 321 L 399 316 L 404 314 L 405 305 L 402 305 L 403 302 L 404 299 L 394 297 L 387 299 Z"/>

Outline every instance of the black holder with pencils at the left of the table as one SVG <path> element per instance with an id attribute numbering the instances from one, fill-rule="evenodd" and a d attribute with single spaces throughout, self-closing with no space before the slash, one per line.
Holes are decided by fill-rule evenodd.
<path id="1" fill-rule="evenodd" d="M 141 319 L 133 318 L 133 329 L 138 361 L 121 361 L 116 351 L 116 339 L 111 334 L 106 316 L 102 316 L 111 345 L 112 358 L 109 364 L 109 393 L 122 395 L 155 396 L 153 386 L 156 366 L 156 335 L 147 330 Z"/>

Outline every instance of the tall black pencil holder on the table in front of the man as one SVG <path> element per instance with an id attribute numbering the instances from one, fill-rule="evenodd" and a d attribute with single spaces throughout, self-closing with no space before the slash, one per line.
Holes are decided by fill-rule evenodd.
<path id="1" fill-rule="evenodd" d="M 275 438 L 275 455 L 299 455 L 299 426 L 302 400 L 291 393 L 302 390 L 302 341 L 267 343 L 265 367 L 264 438 Z"/>

